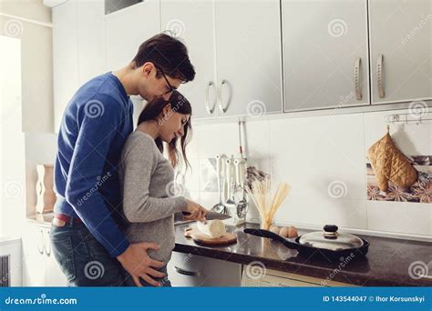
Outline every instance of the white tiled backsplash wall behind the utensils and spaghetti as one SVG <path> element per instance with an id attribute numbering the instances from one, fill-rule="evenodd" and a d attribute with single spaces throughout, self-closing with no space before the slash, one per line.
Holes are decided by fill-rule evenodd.
<path id="1" fill-rule="evenodd" d="M 432 236 L 432 204 L 366 200 L 365 152 L 386 134 L 385 116 L 406 110 L 257 120 L 245 125 L 249 164 L 293 186 L 275 216 L 276 224 L 338 226 L 407 235 Z M 429 115 L 432 115 L 429 113 Z M 430 117 L 430 116 L 429 116 Z M 190 196 L 211 207 L 214 180 L 208 158 L 238 150 L 237 124 L 195 125 L 186 178 Z M 406 155 L 432 155 L 432 125 L 392 125 L 390 133 Z M 214 173 L 213 173 L 214 175 Z M 334 196 L 332 186 L 343 195 Z M 251 208 L 248 219 L 258 221 Z"/>

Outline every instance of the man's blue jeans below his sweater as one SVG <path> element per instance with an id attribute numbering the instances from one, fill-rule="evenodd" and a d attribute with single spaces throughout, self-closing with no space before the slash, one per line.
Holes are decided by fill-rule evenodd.
<path id="1" fill-rule="evenodd" d="M 127 272 L 84 224 L 51 225 L 53 254 L 69 286 L 127 286 Z"/>

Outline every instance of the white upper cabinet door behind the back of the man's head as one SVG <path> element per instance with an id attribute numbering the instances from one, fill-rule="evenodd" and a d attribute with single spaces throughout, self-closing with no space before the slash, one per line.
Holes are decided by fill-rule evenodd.
<path id="1" fill-rule="evenodd" d="M 105 16 L 108 70 L 128 65 L 139 45 L 160 33 L 159 12 L 159 0 L 149 0 Z"/>

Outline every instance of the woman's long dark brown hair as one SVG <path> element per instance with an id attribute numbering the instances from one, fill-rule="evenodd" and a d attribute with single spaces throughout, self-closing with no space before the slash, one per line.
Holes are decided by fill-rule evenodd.
<path id="1" fill-rule="evenodd" d="M 179 91 L 173 91 L 170 95 L 170 99 L 167 101 L 162 97 L 156 97 L 155 99 L 149 101 L 147 105 L 142 109 L 138 118 L 138 125 L 145 121 L 154 120 L 159 124 L 161 122 L 166 122 L 170 115 L 165 116 L 165 118 L 160 118 L 163 108 L 166 105 L 171 105 L 173 112 L 180 113 L 182 115 L 192 115 L 192 107 L 190 102 L 180 94 Z M 192 132 L 192 125 L 190 124 L 190 118 L 188 122 L 184 125 L 184 134 L 180 138 L 180 148 L 181 156 L 183 162 L 186 166 L 190 167 L 188 157 L 186 156 L 186 145 L 190 142 L 190 135 Z M 178 138 L 173 138 L 168 144 L 168 156 L 170 158 L 171 166 L 176 167 L 179 164 L 180 152 L 177 149 Z M 163 153 L 164 146 L 162 140 L 158 137 L 155 139 L 156 145 L 159 151 Z"/>

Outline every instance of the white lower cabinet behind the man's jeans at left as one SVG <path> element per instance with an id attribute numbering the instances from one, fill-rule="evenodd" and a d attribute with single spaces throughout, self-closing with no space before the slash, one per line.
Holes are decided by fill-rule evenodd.
<path id="1" fill-rule="evenodd" d="M 52 253 L 49 224 L 26 223 L 23 232 L 24 286 L 67 286 Z"/>

